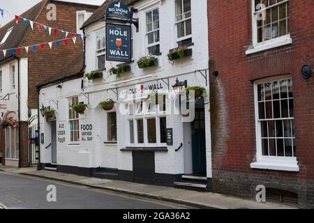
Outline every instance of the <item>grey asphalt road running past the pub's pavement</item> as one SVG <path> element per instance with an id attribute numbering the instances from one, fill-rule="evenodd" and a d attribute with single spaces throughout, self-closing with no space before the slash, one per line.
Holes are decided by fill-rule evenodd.
<path id="1" fill-rule="evenodd" d="M 57 189 L 57 202 L 47 201 L 48 185 Z M 178 209 L 189 208 L 174 203 L 133 197 L 0 172 L 0 206 L 8 209 Z"/>

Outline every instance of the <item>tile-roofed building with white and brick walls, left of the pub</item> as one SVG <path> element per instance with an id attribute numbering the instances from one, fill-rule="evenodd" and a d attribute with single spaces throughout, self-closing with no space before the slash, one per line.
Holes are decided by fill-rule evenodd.
<path id="1" fill-rule="evenodd" d="M 51 5 L 53 4 L 53 5 Z M 56 7 L 57 20 L 47 20 L 47 14 Z M 8 22 L 0 29 L 0 99 L 6 102 L 7 112 L 3 118 L 14 118 L 18 122 L 17 128 L 1 129 L 2 164 L 27 167 L 37 162 L 36 155 L 38 132 L 38 97 L 36 85 L 42 82 L 56 70 L 81 54 L 83 45 L 80 38 L 74 45 L 72 36 L 68 36 L 68 45 L 55 44 L 52 49 L 46 44 L 41 50 L 38 46 L 35 52 L 31 47 L 27 54 L 24 46 L 47 43 L 63 39 L 61 31 L 54 36 L 54 29 L 80 33 L 80 26 L 96 10 L 98 6 L 82 3 L 69 3 L 63 1 L 44 0 L 36 4 L 21 17 L 35 22 L 33 30 L 22 19 L 18 24 L 15 20 Z M 36 23 L 52 27 L 51 35 L 44 31 L 43 26 L 38 30 Z M 20 54 L 2 53 L 2 49 L 21 47 Z M 53 102 L 51 102 L 53 103 Z M 40 105 L 39 105 L 40 106 Z M 1 125 L 2 126 L 2 125 Z"/>

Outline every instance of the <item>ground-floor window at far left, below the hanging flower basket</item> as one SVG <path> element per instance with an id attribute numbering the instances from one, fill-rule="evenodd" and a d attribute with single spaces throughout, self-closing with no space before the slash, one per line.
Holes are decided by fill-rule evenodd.
<path id="1" fill-rule="evenodd" d="M 19 131 L 17 128 L 6 128 L 6 158 L 19 159 Z"/>

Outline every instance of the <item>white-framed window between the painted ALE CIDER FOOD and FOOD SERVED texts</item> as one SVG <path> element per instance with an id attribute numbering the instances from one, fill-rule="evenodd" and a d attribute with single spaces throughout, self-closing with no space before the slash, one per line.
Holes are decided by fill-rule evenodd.
<path id="1" fill-rule="evenodd" d="M 80 141 L 80 128 L 79 128 L 79 114 L 75 112 L 71 106 L 78 104 L 78 96 L 69 98 L 69 132 L 70 132 L 70 144 L 78 144 Z"/>

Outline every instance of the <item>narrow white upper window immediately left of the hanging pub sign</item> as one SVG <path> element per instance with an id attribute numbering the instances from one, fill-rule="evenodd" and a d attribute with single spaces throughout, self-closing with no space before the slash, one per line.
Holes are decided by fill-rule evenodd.
<path id="1" fill-rule="evenodd" d="M 96 67 L 98 70 L 105 69 L 106 61 L 106 36 L 105 31 L 96 33 Z"/>

